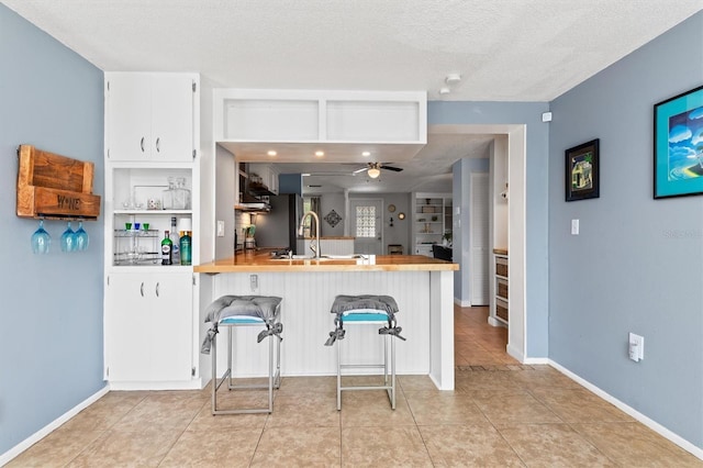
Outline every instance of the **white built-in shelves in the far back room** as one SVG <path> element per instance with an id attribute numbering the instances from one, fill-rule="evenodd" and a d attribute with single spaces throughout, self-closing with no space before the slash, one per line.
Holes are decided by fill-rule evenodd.
<path id="1" fill-rule="evenodd" d="M 432 257 L 433 244 L 442 244 L 451 231 L 451 194 L 415 193 L 412 210 L 413 253 Z"/>

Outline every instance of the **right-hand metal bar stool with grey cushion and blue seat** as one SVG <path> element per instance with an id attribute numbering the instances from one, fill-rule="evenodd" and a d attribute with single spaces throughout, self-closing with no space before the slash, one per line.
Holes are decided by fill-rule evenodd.
<path id="1" fill-rule="evenodd" d="M 342 410 L 342 392 L 345 390 L 386 390 L 395 409 L 395 339 L 405 341 L 400 335 L 402 327 L 395 323 L 399 312 L 395 300 L 390 296 L 337 296 L 331 312 L 335 314 L 335 330 L 330 332 L 325 346 L 337 343 L 337 410 Z M 382 325 L 378 333 L 383 336 L 383 361 L 378 364 L 360 364 L 344 361 L 341 342 L 346 336 L 345 325 Z M 388 342 L 390 339 L 390 363 Z M 389 371 L 390 367 L 390 371 Z M 378 368 L 383 369 L 383 385 L 375 386 L 343 386 L 343 369 Z"/>

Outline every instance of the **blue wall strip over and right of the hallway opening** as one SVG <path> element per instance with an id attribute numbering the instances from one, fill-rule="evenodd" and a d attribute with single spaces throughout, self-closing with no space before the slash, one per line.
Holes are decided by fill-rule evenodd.
<path id="1" fill-rule="evenodd" d="M 549 191 L 549 124 L 542 122 L 542 113 L 548 110 L 546 102 L 427 103 L 429 125 L 524 124 L 526 127 L 525 346 L 529 358 L 546 358 L 548 355 L 548 212 L 545 207 Z"/>

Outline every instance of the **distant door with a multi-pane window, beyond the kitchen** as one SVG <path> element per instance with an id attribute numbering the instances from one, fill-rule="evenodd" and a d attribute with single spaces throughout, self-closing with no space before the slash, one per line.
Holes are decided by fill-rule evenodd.
<path id="1" fill-rule="evenodd" d="M 349 218 L 356 254 L 382 255 L 383 200 L 349 199 Z"/>

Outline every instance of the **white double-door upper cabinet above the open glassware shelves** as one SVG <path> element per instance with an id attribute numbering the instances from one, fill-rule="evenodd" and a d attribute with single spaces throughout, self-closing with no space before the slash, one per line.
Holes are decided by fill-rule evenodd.
<path id="1" fill-rule="evenodd" d="M 109 160 L 192 161 L 197 76 L 105 74 Z"/>

